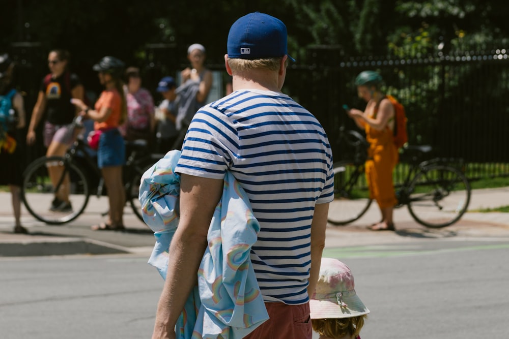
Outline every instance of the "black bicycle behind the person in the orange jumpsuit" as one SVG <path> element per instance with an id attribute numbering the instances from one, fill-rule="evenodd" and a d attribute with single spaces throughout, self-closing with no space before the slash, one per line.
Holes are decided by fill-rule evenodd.
<path id="1" fill-rule="evenodd" d="M 369 144 L 358 132 L 344 131 L 343 126 L 338 139 L 354 148 L 354 156 L 352 160 L 333 164 L 334 201 L 328 221 L 346 225 L 361 218 L 372 203 L 364 175 Z M 471 189 L 460 170 L 462 159 L 423 160 L 431 151 L 428 145 L 403 147 L 400 162 L 408 165 L 408 172 L 403 183 L 395 187 L 398 199 L 395 208 L 406 205 L 417 223 L 441 228 L 460 220 L 470 203 Z"/>

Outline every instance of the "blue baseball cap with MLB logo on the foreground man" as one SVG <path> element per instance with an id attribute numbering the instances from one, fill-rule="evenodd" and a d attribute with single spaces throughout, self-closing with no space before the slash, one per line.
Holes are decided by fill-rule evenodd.
<path id="1" fill-rule="evenodd" d="M 281 20 L 260 12 L 249 13 L 230 28 L 228 57 L 252 60 L 288 55 L 287 39 L 287 28 Z"/>

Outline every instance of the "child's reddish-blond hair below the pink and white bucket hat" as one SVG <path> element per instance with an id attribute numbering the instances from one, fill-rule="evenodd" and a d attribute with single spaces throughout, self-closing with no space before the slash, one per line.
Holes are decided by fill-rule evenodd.
<path id="1" fill-rule="evenodd" d="M 329 319 L 312 319 L 311 324 L 313 330 L 320 335 L 325 335 L 333 339 L 339 339 L 345 335 L 351 335 L 356 338 L 362 326 L 366 315 L 352 318 L 329 318 Z"/>

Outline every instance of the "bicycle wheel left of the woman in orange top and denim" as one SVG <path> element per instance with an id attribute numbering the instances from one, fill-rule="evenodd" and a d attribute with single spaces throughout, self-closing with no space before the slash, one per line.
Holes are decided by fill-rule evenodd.
<path id="1" fill-rule="evenodd" d="M 68 195 L 69 204 L 55 204 L 55 188 L 48 167 L 60 166 L 55 187 Z M 56 174 L 57 176 L 59 173 Z M 83 171 L 64 157 L 42 157 L 31 163 L 23 173 L 21 195 L 26 209 L 36 219 L 50 225 L 68 223 L 78 217 L 89 202 L 89 187 Z M 53 202 L 52 202 L 53 201 Z"/>

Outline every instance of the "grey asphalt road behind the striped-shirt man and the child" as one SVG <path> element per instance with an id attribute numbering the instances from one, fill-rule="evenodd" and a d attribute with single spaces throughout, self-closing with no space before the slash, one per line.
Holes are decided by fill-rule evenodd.
<path id="1" fill-rule="evenodd" d="M 324 256 L 354 273 L 371 310 L 363 339 L 509 337 L 509 237 L 328 247 Z M 149 338 L 163 281 L 146 262 L 0 258 L 0 337 Z"/>

